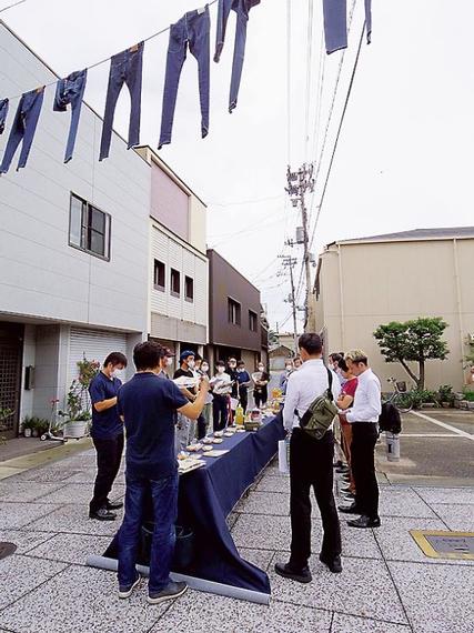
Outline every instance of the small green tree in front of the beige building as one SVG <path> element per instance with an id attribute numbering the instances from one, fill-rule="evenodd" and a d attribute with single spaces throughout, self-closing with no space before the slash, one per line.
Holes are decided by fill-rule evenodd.
<path id="1" fill-rule="evenodd" d="M 399 362 L 412 380 L 416 389 L 425 388 L 426 361 L 444 361 L 450 353 L 447 344 L 442 341 L 447 323 L 441 316 L 420 316 L 400 323 L 392 321 L 379 325 L 374 336 L 387 363 Z M 409 362 L 418 363 L 417 375 Z"/>

